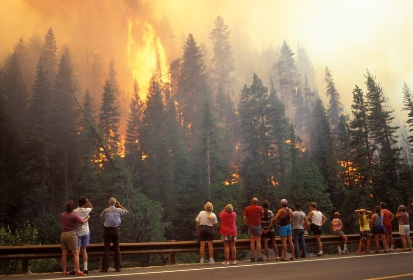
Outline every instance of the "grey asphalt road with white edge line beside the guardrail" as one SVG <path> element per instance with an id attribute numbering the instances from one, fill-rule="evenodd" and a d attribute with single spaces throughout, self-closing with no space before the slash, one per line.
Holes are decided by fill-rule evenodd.
<path id="1" fill-rule="evenodd" d="M 28 274 L 1 279 L 60 280 L 60 279 L 122 279 L 122 280 L 413 280 L 413 252 L 370 255 L 331 255 L 302 258 L 295 261 L 239 261 L 237 265 L 169 265 L 128 268 L 121 272 L 89 271 L 87 277 L 62 276 L 61 273 Z"/>

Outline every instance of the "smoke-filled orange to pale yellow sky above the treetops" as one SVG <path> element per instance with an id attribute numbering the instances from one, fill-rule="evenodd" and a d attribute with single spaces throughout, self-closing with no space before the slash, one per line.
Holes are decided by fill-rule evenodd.
<path id="1" fill-rule="evenodd" d="M 128 90 L 131 67 L 147 63 L 135 56 L 145 56 L 141 46 L 148 38 L 154 37 L 152 42 L 160 38 L 165 65 L 181 55 L 183 38 L 189 33 L 211 52 L 208 35 L 220 15 L 232 30 L 234 49 L 245 43 L 246 35 L 258 50 L 268 45 L 277 48 L 283 40 L 293 51 L 298 44 L 303 46 L 316 70 L 320 95 L 325 99 L 323 78 L 328 66 L 348 113 L 351 91 L 355 84 L 364 88 L 368 68 L 382 84 L 396 117 L 401 117 L 403 81 L 413 87 L 412 11 L 410 0 L 0 0 L 0 59 L 20 35 L 28 39 L 37 31 L 43 37 L 52 26 L 59 48 L 67 43 L 74 53 L 79 76 L 86 74 L 87 51 L 99 49 L 106 65 L 111 57 L 115 59 L 120 85 Z M 166 39 L 156 25 L 164 16 L 171 22 L 174 40 Z M 128 42 L 135 55 L 128 53 Z M 132 72 L 146 75 L 142 70 Z"/>

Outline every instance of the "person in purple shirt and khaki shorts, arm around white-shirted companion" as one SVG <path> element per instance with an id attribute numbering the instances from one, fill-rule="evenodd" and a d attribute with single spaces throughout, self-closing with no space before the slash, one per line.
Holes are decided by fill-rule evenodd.
<path id="1" fill-rule="evenodd" d="M 62 247 L 62 268 L 63 275 L 68 275 L 66 271 L 66 261 L 67 253 L 72 251 L 73 263 L 76 269 L 76 276 L 85 276 L 86 274 L 81 272 L 79 269 L 79 245 L 77 241 L 77 224 L 85 224 L 90 216 L 82 219 L 76 213 L 73 213 L 74 207 L 73 201 L 66 203 L 66 212 L 60 215 L 60 220 L 62 221 L 62 235 L 60 236 L 60 245 Z"/>

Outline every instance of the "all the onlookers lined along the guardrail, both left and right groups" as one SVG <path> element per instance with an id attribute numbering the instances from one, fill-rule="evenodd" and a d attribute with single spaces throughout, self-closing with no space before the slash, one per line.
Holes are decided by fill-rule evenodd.
<path id="1" fill-rule="evenodd" d="M 90 232 L 88 226 L 89 213 L 92 211 L 90 201 L 82 196 L 79 198 L 78 207 L 74 208 L 74 202 L 66 203 L 66 211 L 61 215 L 62 234 L 62 268 L 63 275 L 85 276 L 87 270 L 87 246 L 90 243 Z M 323 243 L 321 242 L 322 227 L 326 223 L 326 216 L 317 210 L 317 204 L 311 202 L 308 204 L 308 214 L 301 211 L 300 203 L 295 203 L 295 211 L 288 207 L 288 201 L 282 199 L 280 209 L 274 215 L 269 209 L 268 200 L 264 200 L 262 207 L 258 205 L 258 199 L 254 197 L 251 200 L 251 205 L 245 208 L 243 212 L 243 221 L 248 227 L 248 235 L 250 237 L 251 261 L 264 261 L 261 257 L 261 239 L 264 245 L 266 259 L 270 260 L 270 251 L 268 248 L 269 241 L 275 252 L 275 258 L 281 261 L 287 261 L 287 242 L 291 250 L 291 260 L 296 258 L 306 257 L 306 245 L 304 236 L 308 235 L 308 231 L 313 232 L 318 245 L 318 253 L 316 256 L 323 256 Z M 85 207 L 86 206 L 86 207 Z M 200 264 L 205 262 L 205 245 L 208 244 L 209 263 L 215 264 L 214 248 L 212 240 L 215 239 L 214 227 L 218 224 L 217 215 L 213 213 L 213 205 L 207 202 L 204 206 L 205 210 L 201 211 L 196 217 L 196 234 L 200 242 L 199 255 Z M 356 254 L 362 254 L 363 245 L 364 253 L 370 254 L 370 240 L 374 236 L 375 253 L 379 253 L 379 242 L 382 240 L 384 253 L 392 252 L 394 248 L 394 240 L 392 237 L 391 222 L 394 218 L 399 222 L 399 234 L 403 243 L 402 251 L 412 251 L 412 241 L 410 239 L 409 214 L 406 212 L 406 207 L 400 205 L 397 213 L 393 215 L 386 209 L 386 203 L 380 203 L 380 206 L 374 208 L 374 213 L 365 209 L 355 210 L 360 225 L 360 243 Z M 114 263 L 116 271 L 121 270 L 120 257 L 120 223 L 121 216 L 127 215 L 126 210 L 114 197 L 108 201 L 108 208 L 104 209 L 100 217 L 104 219 L 104 257 L 102 262 L 101 272 L 108 272 L 109 269 L 109 253 L 110 243 L 114 247 Z M 237 214 L 234 212 L 233 206 L 227 204 L 219 213 L 221 226 L 219 234 L 221 235 L 224 244 L 225 260 L 223 265 L 237 264 L 237 249 L 235 246 L 237 240 Z M 278 229 L 278 234 L 282 242 L 282 255 L 280 256 L 277 243 L 275 240 L 275 228 Z M 344 240 L 344 248 L 341 249 L 341 244 L 337 245 L 339 254 L 348 254 L 347 237 L 343 232 L 343 223 L 340 220 L 340 214 L 334 213 L 334 218 L 331 221 L 331 229 L 334 235 L 342 237 Z M 210 242 L 208 242 L 210 241 Z M 301 250 L 300 250 L 301 246 Z M 66 260 L 67 254 L 71 251 L 73 255 L 74 270 L 67 272 Z M 83 270 L 80 270 L 80 252 L 82 253 Z M 257 258 L 256 258 L 257 253 Z M 232 260 L 230 261 L 230 255 Z"/>

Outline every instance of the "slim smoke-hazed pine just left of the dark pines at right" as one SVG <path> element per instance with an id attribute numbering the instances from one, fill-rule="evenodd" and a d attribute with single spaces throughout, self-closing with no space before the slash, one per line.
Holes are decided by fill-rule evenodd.
<path id="1" fill-rule="evenodd" d="M 337 91 L 328 67 L 326 67 L 325 73 L 326 95 L 329 98 L 328 119 L 331 123 L 333 135 L 337 137 L 340 115 L 343 113 L 343 105 L 340 102 L 340 94 Z"/>

